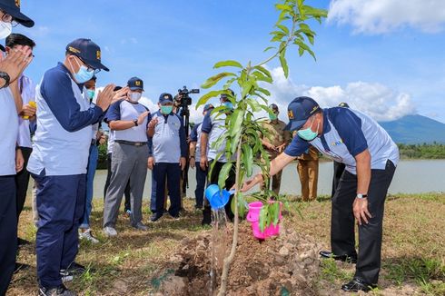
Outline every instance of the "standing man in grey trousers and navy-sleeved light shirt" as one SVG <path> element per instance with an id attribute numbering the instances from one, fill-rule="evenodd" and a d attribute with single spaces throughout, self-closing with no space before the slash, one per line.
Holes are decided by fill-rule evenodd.
<path id="1" fill-rule="evenodd" d="M 127 183 L 130 183 L 132 226 L 137 230 L 147 230 L 142 222 L 142 202 L 147 175 L 147 124 L 152 116 L 143 104 L 138 103 L 143 93 L 142 79 L 130 78 L 128 87 L 127 100 L 112 104 L 105 116 L 114 133 L 112 176 L 104 201 L 104 233 L 107 236 L 117 235 L 115 225 Z"/>

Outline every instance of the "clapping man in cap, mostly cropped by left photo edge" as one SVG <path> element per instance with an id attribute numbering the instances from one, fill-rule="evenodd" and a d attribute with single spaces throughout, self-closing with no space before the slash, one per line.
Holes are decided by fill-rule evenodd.
<path id="1" fill-rule="evenodd" d="M 12 33 L 13 25 L 27 27 L 34 22 L 20 11 L 20 1 L 0 0 L 0 39 Z M 3 48 L 5 51 L 5 48 Z M 33 60 L 32 48 L 11 50 L 0 59 L 0 295 L 5 295 L 15 270 L 17 249 L 17 216 L 15 202 L 15 173 L 22 171 L 24 159 L 16 150 L 19 131 L 17 113 L 22 110 L 18 77 Z"/>

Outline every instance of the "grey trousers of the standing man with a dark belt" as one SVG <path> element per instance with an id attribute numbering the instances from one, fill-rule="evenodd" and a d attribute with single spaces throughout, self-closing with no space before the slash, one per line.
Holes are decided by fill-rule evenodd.
<path id="1" fill-rule="evenodd" d="M 114 143 L 112 176 L 104 201 L 104 227 L 114 227 L 125 186 L 130 182 L 132 225 L 143 220 L 143 185 L 147 175 L 148 146 Z"/>

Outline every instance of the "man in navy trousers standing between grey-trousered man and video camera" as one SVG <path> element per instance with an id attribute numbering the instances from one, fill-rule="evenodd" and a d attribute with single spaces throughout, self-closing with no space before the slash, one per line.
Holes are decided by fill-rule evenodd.
<path id="1" fill-rule="evenodd" d="M 148 124 L 148 135 L 151 155 L 148 168 L 152 170 L 152 198 L 150 209 L 153 212 L 150 220 L 158 221 L 163 216 L 163 199 L 165 182 L 170 195 L 170 215 L 178 219 L 181 210 L 181 171 L 185 168 L 187 143 L 183 121 L 173 113 L 172 94 L 159 96 L 159 111 L 153 113 Z"/>

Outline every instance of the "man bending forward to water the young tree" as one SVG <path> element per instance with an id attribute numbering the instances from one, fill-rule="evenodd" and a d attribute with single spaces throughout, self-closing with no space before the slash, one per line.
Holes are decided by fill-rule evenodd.
<path id="1" fill-rule="evenodd" d="M 311 145 L 346 165 L 332 198 L 331 248 L 321 257 L 357 261 L 352 281 L 343 291 L 370 291 L 379 280 L 383 209 L 399 162 L 399 149 L 371 117 L 342 107 L 321 109 L 312 98 L 298 97 L 288 107 L 288 128 L 297 136 L 271 163 L 270 174 L 282 170 Z M 262 183 L 262 174 L 242 186 L 242 192 Z M 355 250 L 354 217 L 359 223 L 359 253 Z"/>

